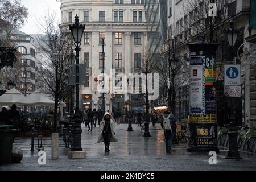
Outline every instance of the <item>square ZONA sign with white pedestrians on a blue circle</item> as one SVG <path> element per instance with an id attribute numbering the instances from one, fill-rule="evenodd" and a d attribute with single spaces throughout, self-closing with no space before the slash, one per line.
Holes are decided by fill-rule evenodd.
<path id="1" fill-rule="evenodd" d="M 224 85 L 241 86 L 241 65 L 224 65 Z"/>

